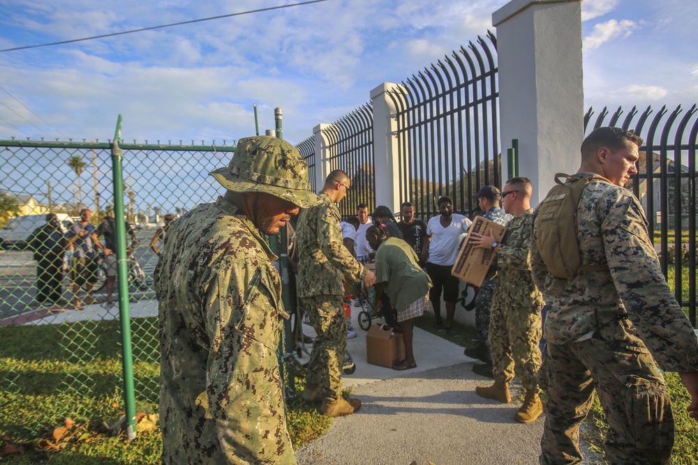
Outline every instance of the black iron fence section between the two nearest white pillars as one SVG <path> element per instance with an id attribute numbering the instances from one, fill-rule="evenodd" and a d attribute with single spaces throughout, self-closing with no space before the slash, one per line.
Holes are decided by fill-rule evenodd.
<path id="1" fill-rule="evenodd" d="M 446 195 L 473 211 L 482 185 L 501 185 L 496 38 L 479 37 L 403 82 L 397 108 L 399 192 L 422 218 Z"/>

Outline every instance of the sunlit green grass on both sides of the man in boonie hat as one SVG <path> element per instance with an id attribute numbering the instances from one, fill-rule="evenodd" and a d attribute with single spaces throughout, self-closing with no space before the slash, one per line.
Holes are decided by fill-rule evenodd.
<path id="1" fill-rule="evenodd" d="M 158 413 L 159 356 L 156 319 L 132 321 L 136 411 Z M 27 451 L 0 457 L 7 464 L 157 464 L 159 429 L 128 442 L 103 426 L 124 411 L 121 346 L 117 321 L 0 328 L 0 450 L 27 444 Z M 296 390 L 304 385 L 296 367 Z M 297 396 L 299 397 L 299 396 Z M 332 419 L 318 405 L 293 399 L 288 427 L 294 447 L 327 432 Z M 59 450 L 37 448 L 52 439 L 65 418 L 75 425 L 57 442 Z"/>

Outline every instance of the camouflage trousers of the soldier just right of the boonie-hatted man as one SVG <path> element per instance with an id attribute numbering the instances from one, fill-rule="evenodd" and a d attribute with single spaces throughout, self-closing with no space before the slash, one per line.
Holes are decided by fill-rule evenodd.
<path id="1" fill-rule="evenodd" d="M 313 351 L 306 371 L 309 383 L 322 386 L 322 395 L 339 399 L 340 379 L 347 346 L 347 321 L 341 296 L 313 296 L 301 299 L 308 319 L 315 329 Z"/>

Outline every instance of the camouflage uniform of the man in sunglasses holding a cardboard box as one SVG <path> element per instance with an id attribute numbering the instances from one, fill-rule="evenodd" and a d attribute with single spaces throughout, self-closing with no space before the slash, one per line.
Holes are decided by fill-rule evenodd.
<path id="1" fill-rule="evenodd" d="M 544 302 L 530 277 L 532 225 L 533 208 L 507 223 L 496 254 L 498 282 L 492 295 L 489 346 L 495 381 L 512 381 L 515 367 L 526 391 L 536 393 Z"/>

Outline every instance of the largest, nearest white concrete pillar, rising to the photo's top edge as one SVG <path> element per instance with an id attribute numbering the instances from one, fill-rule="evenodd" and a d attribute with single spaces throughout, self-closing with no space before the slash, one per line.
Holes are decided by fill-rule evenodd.
<path id="1" fill-rule="evenodd" d="M 492 15 L 497 28 L 503 176 L 519 139 L 519 175 L 532 206 L 558 172 L 579 169 L 584 139 L 581 0 L 512 0 Z"/>

